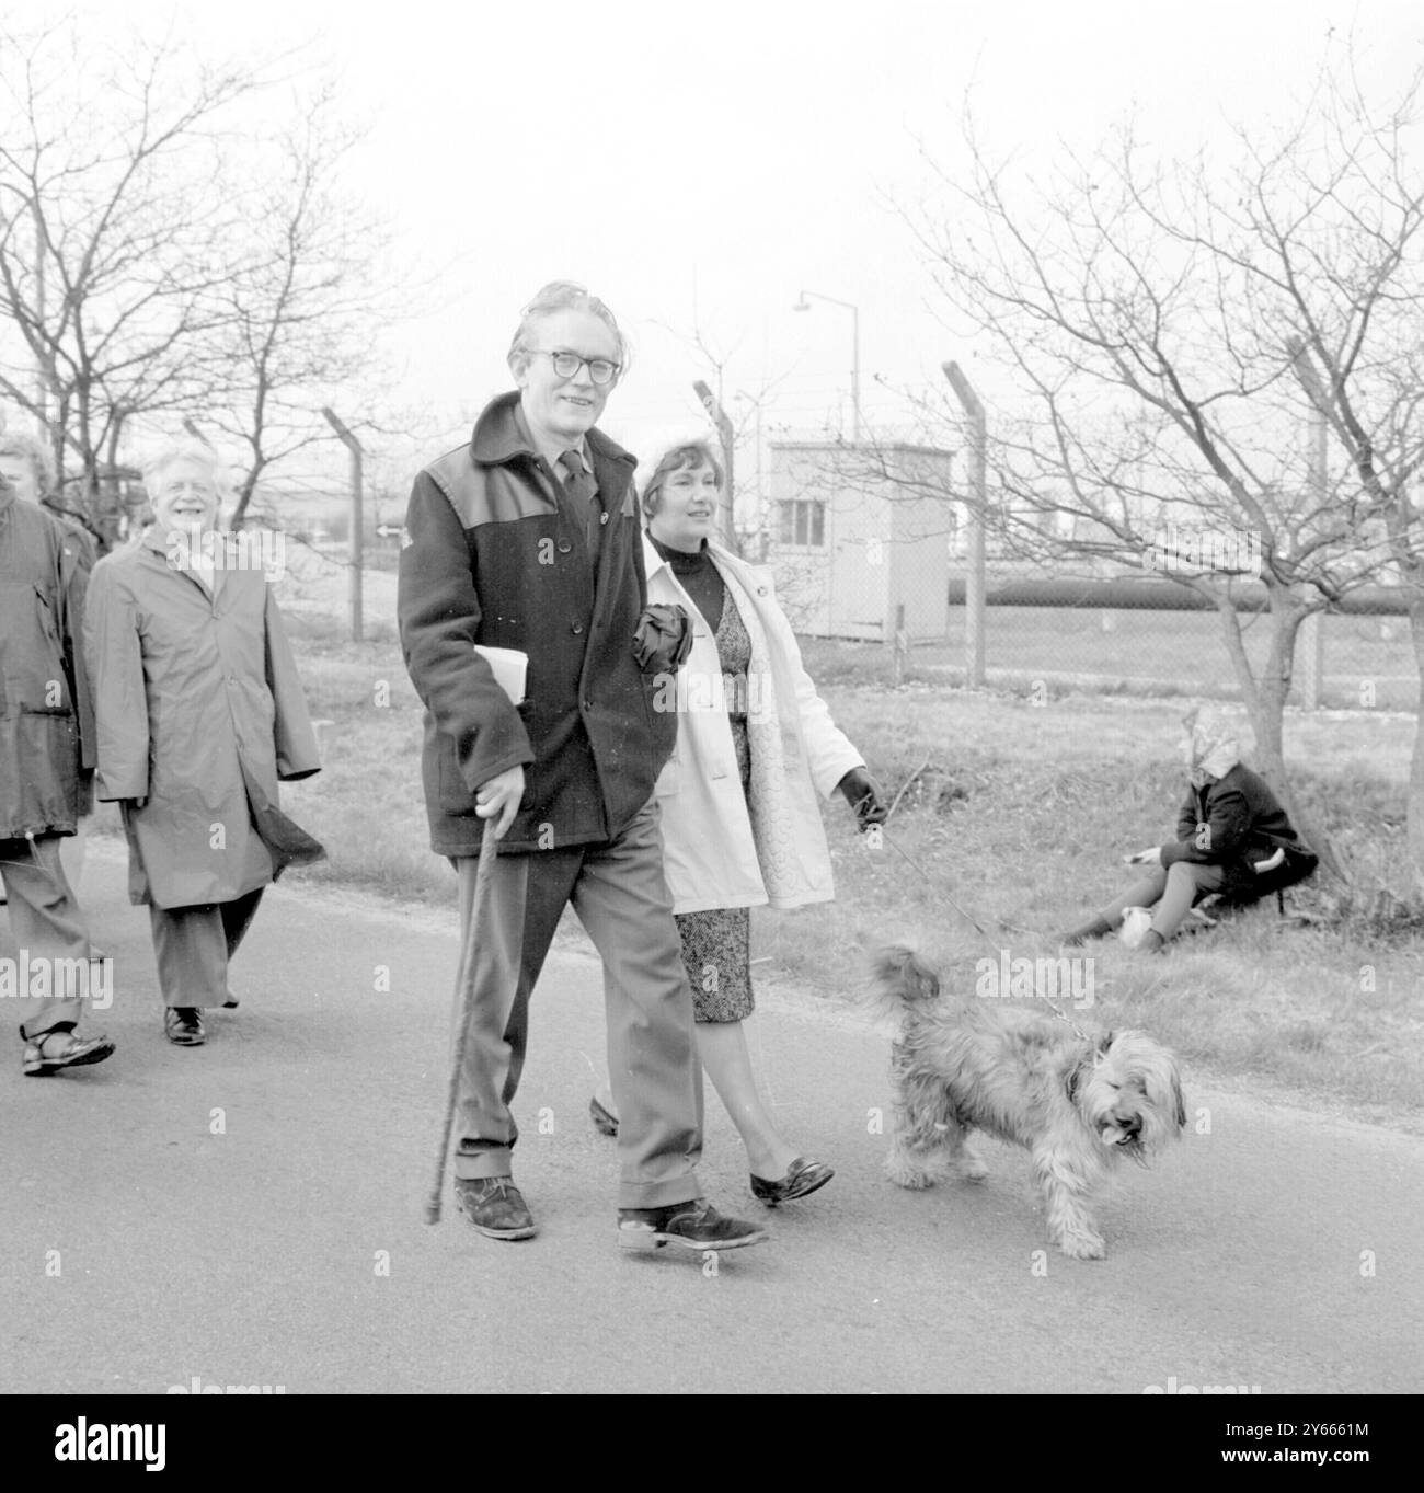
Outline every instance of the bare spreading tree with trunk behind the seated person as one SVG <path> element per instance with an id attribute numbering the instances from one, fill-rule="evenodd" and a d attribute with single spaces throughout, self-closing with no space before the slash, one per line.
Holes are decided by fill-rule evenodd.
<path id="1" fill-rule="evenodd" d="M 1260 766 L 1336 872 L 1291 791 L 1282 715 L 1302 623 L 1417 564 L 1421 85 L 1372 105 L 1346 55 L 1293 128 L 1237 128 L 1230 163 L 1164 160 L 1124 124 L 1048 184 L 991 163 L 966 112 L 967 175 L 927 155 L 936 196 L 906 213 L 997 379 L 987 521 L 1017 554 L 1155 566 L 1211 599 Z M 1303 348 L 1346 463 L 1312 464 Z M 1194 542 L 1175 543 L 1184 526 Z M 1260 667 L 1236 606 L 1257 569 Z"/>

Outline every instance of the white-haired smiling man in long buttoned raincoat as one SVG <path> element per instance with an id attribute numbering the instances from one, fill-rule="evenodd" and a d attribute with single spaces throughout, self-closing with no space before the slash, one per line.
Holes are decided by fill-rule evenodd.
<path id="1" fill-rule="evenodd" d="M 263 888 L 322 854 L 278 809 L 278 781 L 321 763 L 258 546 L 216 533 L 216 457 L 179 442 L 143 481 L 157 523 L 94 567 L 85 611 L 99 797 L 122 808 L 164 1033 L 197 1047 L 203 1008 L 237 1003 L 227 966 Z"/>

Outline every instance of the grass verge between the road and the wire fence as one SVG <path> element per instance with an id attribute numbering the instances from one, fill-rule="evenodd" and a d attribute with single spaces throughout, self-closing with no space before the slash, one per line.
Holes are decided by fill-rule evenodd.
<path id="1" fill-rule="evenodd" d="M 455 881 L 427 850 L 419 788 L 419 705 L 391 627 L 343 640 L 339 623 L 290 618 L 325 770 L 285 794 L 330 860 L 294 873 L 384 897 L 448 905 Z M 1115 893 L 1127 850 L 1172 832 L 1181 794 L 1179 700 L 966 693 L 911 675 L 888 688 L 884 649 L 808 649 L 837 723 L 896 793 L 919 769 L 875 853 L 839 799 L 825 806 L 837 902 L 758 912 L 758 981 L 830 1002 L 855 999 L 864 948 L 905 936 L 961 970 L 975 961 L 1058 953 L 1055 930 Z M 1403 836 L 1414 721 L 1358 712 L 1293 717 L 1287 752 L 1311 808 L 1372 884 L 1390 881 Z M 899 851 L 893 847 L 899 847 Z M 909 857 L 915 861 L 908 864 Z M 981 938 L 951 906 L 987 930 Z M 1296 911 L 1327 911 L 1314 890 Z M 1148 959 L 1117 941 L 1091 947 L 1091 1018 L 1142 1026 L 1188 1070 L 1260 1079 L 1369 1117 L 1424 1117 L 1421 953 L 1417 935 L 1382 938 L 1361 920 L 1297 927 L 1275 905 Z"/>

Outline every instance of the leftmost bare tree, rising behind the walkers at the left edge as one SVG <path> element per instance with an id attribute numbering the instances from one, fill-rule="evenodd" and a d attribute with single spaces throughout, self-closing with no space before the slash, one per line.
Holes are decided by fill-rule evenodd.
<path id="1" fill-rule="evenodd" d="M 0 394 L 51 434 L 81 503 L 131 420 L 190 408 L 221 325 L 234 213 L 219 128 L 258 87 L 169 40 L 0 33 Z"/>

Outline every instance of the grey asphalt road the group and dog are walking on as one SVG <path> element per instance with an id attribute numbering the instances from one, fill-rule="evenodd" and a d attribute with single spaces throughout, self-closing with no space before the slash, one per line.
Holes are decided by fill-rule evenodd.
<path id="1" fill-rule="evenodd" d="M 908 1193 L 881 1175 L 882 1030 L 769 994 L 752 1023 L 785 1132 L 837 1168 L 770 1244 L 625 1256 L 587 1120 L 597 963 L 555 953 L 516 1100 L 537 1239 L 422 1223 L 445 1093 L 452 918 L 269 893 L 237 1012 L 170 1047 L 115 853 L 85 905 L 115 956 L 107 1063 L 0 1067 L 0 1390 L 1417 1391 L 1424 1142 L 1193 1084 L 1209 1111 L 1103 1209 L 1109 1259 L 1046 1251 L 1027 1159 Z M 12 954 L 7 932 L 0 954 Z M 390 988 L 379 966 L 390 970 Z M 757 1215 L 709 1094 L 705 1190 Z M 57 1254 L 52 1251 L 58 1251 Z M 1043 1269 L 1046 1262 L 1046 1271 Z"/>

